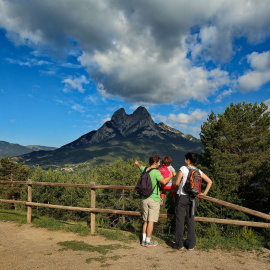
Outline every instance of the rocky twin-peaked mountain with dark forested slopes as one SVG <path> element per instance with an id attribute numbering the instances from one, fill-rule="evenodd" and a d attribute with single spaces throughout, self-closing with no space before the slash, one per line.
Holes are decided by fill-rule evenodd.
<path id="1" fill-rule="evenodd" d="M 185 153 L 201 152 L 200 140 L 164 123 L 156 124 L 144 107 L 131 115 L 116 111 L 111 121 L 54 151 L 37 151 L 17 157 L 29 165 L 77 164 L 86 161 L 110 162 L 119 157 L 148 160 L 152 154 L 170 155 L 175 166 L 183 163 Z"/>

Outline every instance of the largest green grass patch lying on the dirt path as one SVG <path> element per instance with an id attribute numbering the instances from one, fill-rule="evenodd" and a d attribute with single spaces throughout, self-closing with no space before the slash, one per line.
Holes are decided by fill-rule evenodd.
<path id="1" fill-rule="evenodd" d="M 60 249 L 61 251 L 71 249 L 73 251 L 98 252 L 103 255 L 106 255 L 109 251 L 116 249 L 131 249 L 131 247 L 123 246 L 120 244 L 93 246 L 83 241 L 65 241 L 59 242 L 57 244 L 63 247 Z"/>

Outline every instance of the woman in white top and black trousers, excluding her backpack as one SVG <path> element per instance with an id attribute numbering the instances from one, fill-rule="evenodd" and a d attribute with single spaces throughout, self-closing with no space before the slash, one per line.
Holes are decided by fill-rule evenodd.
<path id="1" fill-rule="evenodd" d="M 196 245 L 196 235 L 195 235 L 195 220 L 194 215 L 192 214 L 192 205 L 194 198 L 190 195 L 186 194 L 183 190 L 183 187 L 186 183 L 187 176 L 189 173 L 188 167 L 195 167 L 194 164 L 198 160 L 198 154 L 195 153 L 187 153 L 185 155 L 185 164 L 186 166 L 182 166 L 180 168 L 179 174 L 177 176 L 175 185 L 178 188 L 176 201 L 175 201 L 175 245 L 174 248 L 182 250 L 184 249 L 184 225 L 185 225 L 185 215 L 187 217 L 187 249 L 193 250 Z M 195 167 L 196 168 L 196 167 Z M 198 196 L 205 196 L 211 185 L 212 180 L 204 174 L 201 170 L 199 170 L 201 177 L 204 181 L 206 181 L 207 185 L 205 191 L 200 193 Z M 194 209 L 193 209 L 194 210 Z M 195 209 L 196 210 L 196 209 Z M 195 212 L 194 210 L 194 212 Z"/>

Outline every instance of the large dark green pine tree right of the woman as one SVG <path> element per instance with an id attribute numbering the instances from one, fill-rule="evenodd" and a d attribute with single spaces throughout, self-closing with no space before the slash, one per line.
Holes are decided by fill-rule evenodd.
<path id="1" fill-rule="evenodd" d="M 269 207 L 268 198 L 263 195 L 266 189 L 264 187 L 260 192 L 263 198 L 258 196 L 254 176 L 265 169 L 264 164 L 270 158 L 269 127 L 270 112 L 264 103 L 231 103 L 223 114 L 217 116 L 212 112 L 209 115 L 201 127 L 201 141 L 205 146 L 201 168 L 213 180 L 210 196 L 265 212 Z M 266 169 L 269 170 L 269 164 Z M 269 174 L 261 180 L 269 183 Z M 248 203 L 251 197 L 261 203 Z M 205 202 L 203 207 L 206 210 Z M 207 205 L 207 209 L 202 211 L 201 208 L 200 214 L 248 219 L 246 215 L 224 207 Z"/>

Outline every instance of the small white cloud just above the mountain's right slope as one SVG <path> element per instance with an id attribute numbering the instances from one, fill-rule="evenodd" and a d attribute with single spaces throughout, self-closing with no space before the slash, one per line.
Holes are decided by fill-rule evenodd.
<path id="1" fill-rule="evenodd" d="M 184 113 L 180 113 L 178 115 L 170 114 L 169 120 L 172 123 L 193 124 L 198 121 L 205 120 L 207 116 L 208 116 L 207 112 L 197 109 L 193 111 L 191 114 L 184 114 Z"/>

